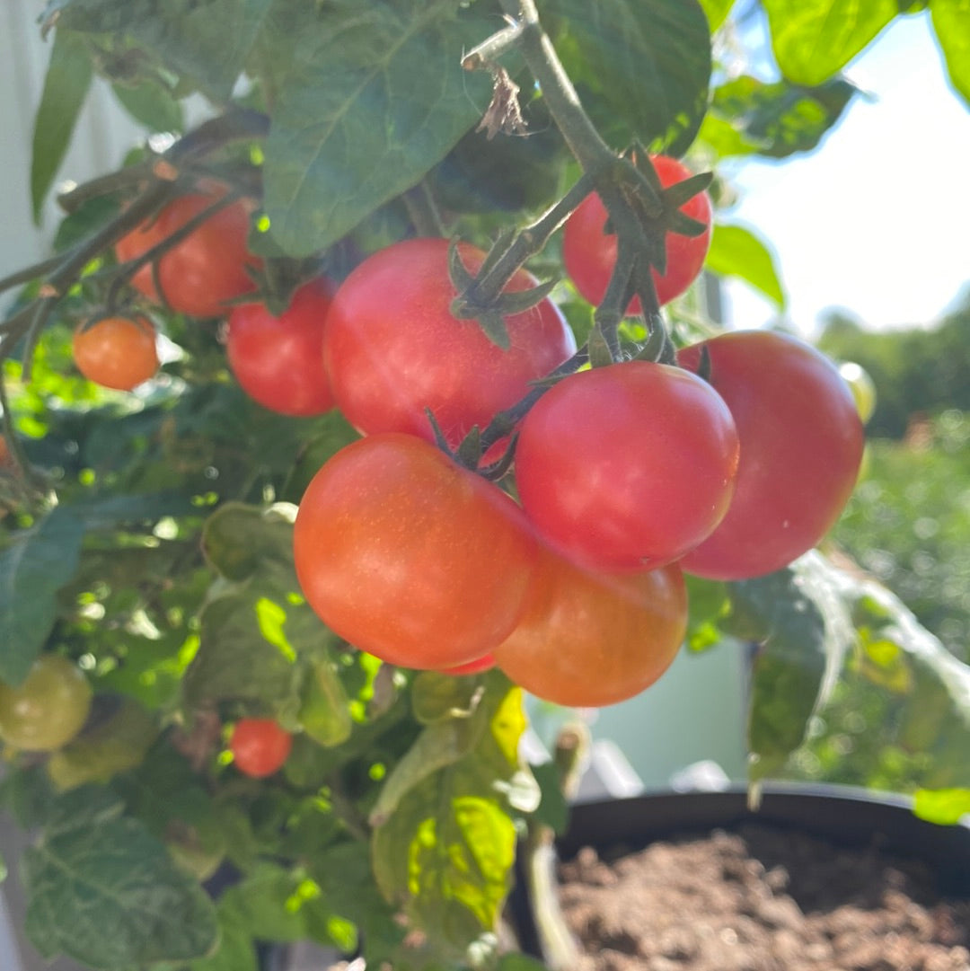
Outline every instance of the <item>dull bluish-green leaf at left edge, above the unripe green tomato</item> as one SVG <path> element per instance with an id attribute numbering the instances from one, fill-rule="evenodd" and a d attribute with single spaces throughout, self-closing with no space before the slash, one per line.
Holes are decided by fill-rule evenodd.
<path id="1" fill-rule="evenodd" d="M 58 506 L 0 553 L 0 680 L 18 685 L 57 617 L 56 593 L 75 574 L 84 523 Z"/>

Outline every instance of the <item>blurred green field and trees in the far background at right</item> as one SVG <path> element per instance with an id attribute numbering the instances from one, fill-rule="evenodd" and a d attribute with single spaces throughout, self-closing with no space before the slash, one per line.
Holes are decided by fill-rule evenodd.
<path id="1" fill-rule="evenodd" d="M 970 292 L 932 326 L 873 333 L 833 313 L 819 347 L 861 364 L 878 396 L 862 477 L 832 543 L 970 661 Z M 918 787 L 931 754 L 893 730 L 910 695 L 850 658 L 784 775 Z"/>

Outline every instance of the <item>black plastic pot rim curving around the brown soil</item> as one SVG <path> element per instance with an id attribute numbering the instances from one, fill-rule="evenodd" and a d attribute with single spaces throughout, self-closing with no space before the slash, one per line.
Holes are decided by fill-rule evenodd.
<path id="1" fill-rule="evenodd" d="M 760 807 L 748 808 L 743 788 L 723 792 L 661 792 L 580 803 L 556 844 L 561 859 L 583 847 L 599 854 L 636 851 L 654 840 L 761 822 L 798 830 L 844 846 L 874 846 L 930 866 L 940 890 L 970 898 L 970 826 L 940 826 L 913 815 L 902 796 L 851 787 L 766 786 Z M 523 950 L 538 955 L 529 902 L 519 881 L 512 909 Z"/>

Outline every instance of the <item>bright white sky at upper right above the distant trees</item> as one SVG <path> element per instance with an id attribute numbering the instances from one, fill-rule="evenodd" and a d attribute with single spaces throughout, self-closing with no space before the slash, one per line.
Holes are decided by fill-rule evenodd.
<path id="1" fill-rule="evenodd" d="M 850 65 L 856 98 L 810 155 L 747 162 L 724 214 L 772 242 L 806 335 L 841 307 L 874 329 L 926 325 L 970 282 L 970 110 L 953 93 L 926 15 L 903 17 Z M 727 287 L 729 321 L 759 326 L 772 305 Z"/>

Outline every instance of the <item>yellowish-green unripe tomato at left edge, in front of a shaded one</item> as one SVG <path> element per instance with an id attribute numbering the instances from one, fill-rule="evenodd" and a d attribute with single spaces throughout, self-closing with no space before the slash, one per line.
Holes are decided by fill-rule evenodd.
<path id="1" fill-rule="evenodd" d="M 73 661 L 41 654 L 23 684 L 0 683 L 0 738 L 15 749 L 52 752 L 81 731 L 91 686 Z"/>

